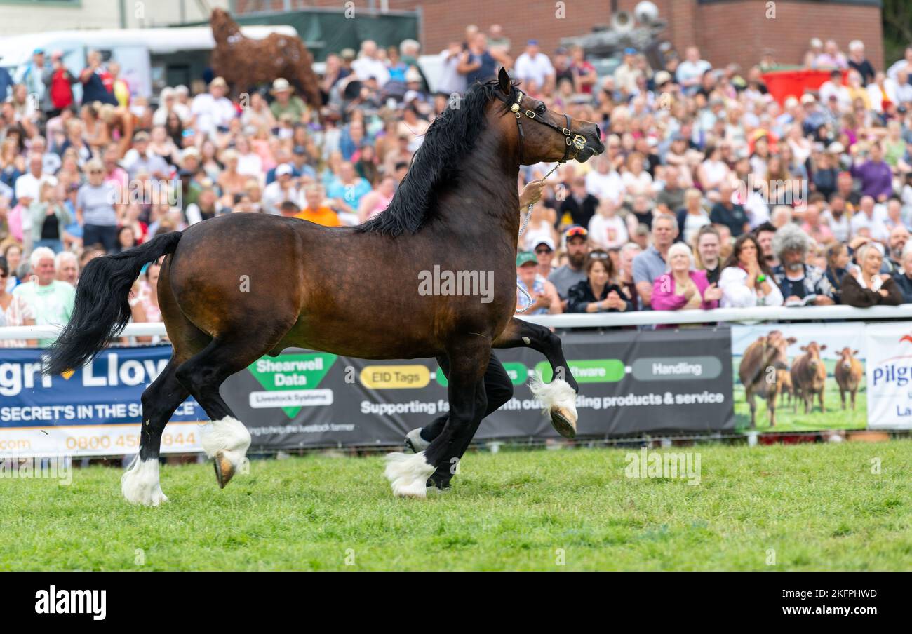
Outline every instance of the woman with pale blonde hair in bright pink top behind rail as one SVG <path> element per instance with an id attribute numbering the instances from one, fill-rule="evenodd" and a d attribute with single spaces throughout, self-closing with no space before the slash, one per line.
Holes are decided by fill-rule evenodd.
<path id="1" fill-rule="evenodd" d="M 668 248 L 668 273 L 659 275 L 652 287 L 653 310 L 709 310 L 719 307 L 721 296 L 721 289 L 710 284 L 706 271 L 694 270 L 687 244 L 676 243 Z"/>

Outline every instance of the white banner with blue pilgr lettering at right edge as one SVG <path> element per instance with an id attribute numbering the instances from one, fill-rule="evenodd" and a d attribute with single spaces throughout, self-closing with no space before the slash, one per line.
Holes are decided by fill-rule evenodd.
<path id="1" fill-rule="evenodd" d="M 912 429 L 912 324 L 870 324 L 867 339 L 867 425 Z"/>

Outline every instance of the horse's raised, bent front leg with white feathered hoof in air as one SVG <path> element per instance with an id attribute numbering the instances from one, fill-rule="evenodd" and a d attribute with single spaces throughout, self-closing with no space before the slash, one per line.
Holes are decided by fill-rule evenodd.
<path id="1" fill-rule="evenodd" d="M 544 326 L 513 317 L 500 337 L 494 339 L 493 348 L 532 348 L 548 359 L 554 372 L 550 383 L 532 379 L 529 387 L 542 401 L 544 410 L 551 417 L 554 429 L 565 438 L 576 435 L 576 394 L 579 385 L 570 371 L 561 347 L 561 338 Z"/>

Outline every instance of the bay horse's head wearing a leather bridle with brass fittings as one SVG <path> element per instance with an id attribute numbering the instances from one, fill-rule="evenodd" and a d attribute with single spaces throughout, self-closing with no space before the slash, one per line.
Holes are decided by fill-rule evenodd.
<path id="1" fill-rule="evenodd" d="M 569 115 L 549 110 L 538 99 L 532 99 L 513 87 L 507 71 L 497 76 L 501 99 L 510 106 L 510 119 L 516 121 L 520 163 L 567 161 L 584 162 L 605 151 L 598 126 L 591 121 L 574 121 Z M 524 124 L 524 125 L 523 125 Z M 512 126 L 513 123 L 503 123 Z"/>

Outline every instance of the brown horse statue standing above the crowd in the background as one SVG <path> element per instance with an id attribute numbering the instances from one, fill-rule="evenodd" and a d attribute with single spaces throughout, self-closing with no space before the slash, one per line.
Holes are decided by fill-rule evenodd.
<path id="1" fill-rule="evenodd" d="M 233 95 L 285 78 L 311 108 L 318 110 L 323 105 L 319 79 L 312 68 L 314 57 L 300 37 L 273 33 L 264 39 L 251 39 L 223 9 L 212 10 L 209 24 L 215 38 L 212 71 L 228 82 Z"/>

